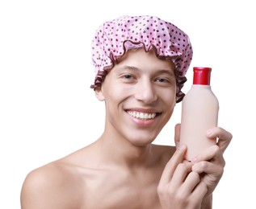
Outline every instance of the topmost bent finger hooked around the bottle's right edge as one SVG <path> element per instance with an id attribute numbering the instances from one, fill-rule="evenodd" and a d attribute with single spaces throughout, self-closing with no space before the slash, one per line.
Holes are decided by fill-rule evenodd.
<path id="1" fill-rule="evenodd" d="M 217 145 L 220 146 L 220 150 L 224 153 L 227 147 L 229 146 L 230 141 L 233 138 L 233 135 L 222 129 L 220 127 L 215 127 L 213 129 L 209 129 L 207 132 L 207 137 L 209 138 L 218 138 Z"/>

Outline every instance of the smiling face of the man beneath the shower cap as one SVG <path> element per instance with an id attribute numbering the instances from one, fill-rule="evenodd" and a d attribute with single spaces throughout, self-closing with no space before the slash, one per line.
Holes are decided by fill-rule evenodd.
<path id="1" fill-rule="evenodd" d="M 116 145 L 123 139 L 131 145 L 149 145 L 169 121 L 176 103 L 174 64 L 158 59 L 153 49 L 130 50 L 95 92 L 105 100 L 105 130 L 114 134 Z"/>

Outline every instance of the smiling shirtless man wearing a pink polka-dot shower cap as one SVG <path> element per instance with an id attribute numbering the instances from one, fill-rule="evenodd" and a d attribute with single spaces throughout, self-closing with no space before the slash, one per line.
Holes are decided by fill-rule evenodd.
<path id="1" fill-rule="evenodd" d="M 231 133 L 212 127 L 217 145 L 184 160 L 186 145 L 153 145 L 183 99 L 192 49 L 187 35 L 152 16 L 124 16 L 96 31 L 91 88 L 106 105 L 94 143 L 27 175 L 30 208 L 211 208 Z"/>

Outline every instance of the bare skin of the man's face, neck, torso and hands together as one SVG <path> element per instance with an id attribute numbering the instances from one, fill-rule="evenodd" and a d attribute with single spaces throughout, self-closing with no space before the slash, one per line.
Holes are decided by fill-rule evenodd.
<path id="1" fill-rule="evenodd" d="M 223 174 L 231 133 L 208 131 L 217 145 L 183 159 L 180 125 L 176 147 L 153 145 L 174 111 L 174 64 L 154 51 L 128 51 L 95 90 L 106 104 L 98 140 L 27 174 L 22 209 L 31 208 L 212 208 L 212 192 Z M 132 117 L 148 113 L 153 119 Z"/>

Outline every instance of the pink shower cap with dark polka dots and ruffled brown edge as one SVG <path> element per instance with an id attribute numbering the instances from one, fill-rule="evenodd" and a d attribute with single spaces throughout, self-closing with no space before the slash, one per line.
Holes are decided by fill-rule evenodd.
<path id="1" fill-rule="evenodd" d="M 95 80 L 90 88 L 101 86 L 115 60 L 134 48 L 153 48 L 157 57 L 171 59 L 175 65 L 176 102 L 183 100 L 181 91 L 193 55 L 189 37 L 172 23 L 153 16 L 122 16 L 106 23 L 95 32 L 92 61 Z"/>

